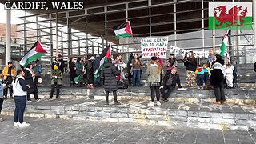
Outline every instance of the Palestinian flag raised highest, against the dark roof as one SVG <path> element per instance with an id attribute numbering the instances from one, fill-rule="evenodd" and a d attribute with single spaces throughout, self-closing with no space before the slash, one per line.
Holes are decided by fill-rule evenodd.
<path id="1" fill-rule="evenodd" d="M 114 27 L 114 34 L 116 39 L 126 38 L 133 36 L 133 32 L 130 27 L 130 21 L 124 22 L 119 26 Z"/>

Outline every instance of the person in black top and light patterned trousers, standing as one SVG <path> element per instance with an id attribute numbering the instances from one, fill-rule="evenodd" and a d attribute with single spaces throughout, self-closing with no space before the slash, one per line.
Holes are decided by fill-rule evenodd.
<path id="1" fill-rule="evenodd" d="M 189 57 L 182 59 L 184 65 L 186 66 L 186 86 L 195 86 L 195 70 L 197 70 L 197 60 L 194 57 L 193 51 L 188 53 Z"/>

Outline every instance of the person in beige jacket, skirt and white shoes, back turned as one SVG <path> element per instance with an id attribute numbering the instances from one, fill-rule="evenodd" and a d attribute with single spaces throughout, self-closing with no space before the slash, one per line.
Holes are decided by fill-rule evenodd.
<path id="1" fill-rule="evenodd" d="M 148 106 L 154 106 L 154 97 L 156 94 L 157 105 L 160 106 L 160 86 L 161 86 L 161 73 L 163 73 L 162 66 L 157 61 L 157 57 L 151 57 L 151 61 L 147 66 L 146 74 L 148 75 L 148 86 L 151 89 L 151 101 Z"/>

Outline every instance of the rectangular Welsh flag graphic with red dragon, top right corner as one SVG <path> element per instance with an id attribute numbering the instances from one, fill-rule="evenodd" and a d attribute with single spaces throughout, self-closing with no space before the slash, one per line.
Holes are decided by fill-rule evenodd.
<path id="1" fill-rule="evenodd" d="M 251 2 L 209 2 L 209 29 L 251 29 Z"/>

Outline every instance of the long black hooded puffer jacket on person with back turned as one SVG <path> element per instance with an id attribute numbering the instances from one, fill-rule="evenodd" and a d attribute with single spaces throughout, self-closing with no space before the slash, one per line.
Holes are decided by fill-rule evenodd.
<path id="1" fill-rule="evenodd" d="M 118 84 L 116 76 L 118 71 L 116 70 L 112 62 L 106 62 L 102 70 L 102 75 L 104 78 L 104 90 L 105 91 L 116 91 L 118 90 Z"/>

